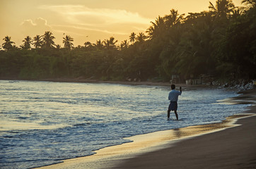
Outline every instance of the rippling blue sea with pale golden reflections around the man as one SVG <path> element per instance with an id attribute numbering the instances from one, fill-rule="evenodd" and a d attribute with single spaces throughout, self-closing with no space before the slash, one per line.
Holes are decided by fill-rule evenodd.
<path id="1" fill-rule="evenodd" d="M 136 134 L 218 123 L 243 111 L 224 89 L 183 91 L 167 120 L 169 87 L 0 80 L 0 168 L 35 168 L 130 142 Z M 175 114 L 171 113 L 175 119 Z"/>

